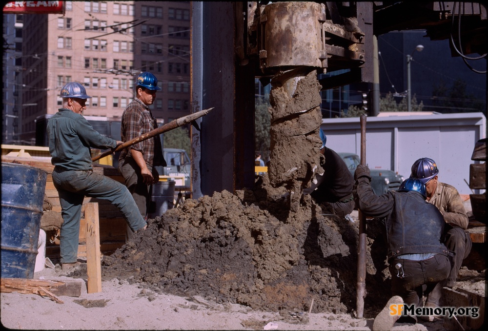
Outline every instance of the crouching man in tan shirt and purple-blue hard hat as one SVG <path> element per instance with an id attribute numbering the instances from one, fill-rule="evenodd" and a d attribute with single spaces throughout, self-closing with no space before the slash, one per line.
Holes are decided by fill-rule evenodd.
<path id="1" fill-rule="evenodd" d="M 427 190 L 426 201 L 437 207 L 446 226 L 444 236 L 446 247 L 454 252 L 451 259 L 451 270 L 445 286 L 452 288 L 456 284 L 456 277 L 461 269 L 463 260 L 471 251 L 471 239 L 466 233 L 468 216 L 459 192 L 453 186 L 438 181 L 439 169 L 434 160 L 421 158 L 412 165 L 412 178 L 418 178 L 425 184 Z M 427 298 L 426 306 L 439 307 L 441 289 L 433 291 Z"/>

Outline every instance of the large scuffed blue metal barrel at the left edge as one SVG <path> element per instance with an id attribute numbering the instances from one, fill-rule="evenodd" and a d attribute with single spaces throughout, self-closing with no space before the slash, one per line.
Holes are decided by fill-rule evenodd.
<path id="1" fill-rule="evenodd" d="M 1 278 L 33 278 L 47 172 L 1 163 Z"/>

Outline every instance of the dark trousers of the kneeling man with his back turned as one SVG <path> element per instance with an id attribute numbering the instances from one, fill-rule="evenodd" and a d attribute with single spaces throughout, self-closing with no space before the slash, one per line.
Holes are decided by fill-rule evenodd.
<path id="1" fill-rule="evenodd" d="M 436 287 L 442 289 L 445 284 L 451 269 L 449 258 L 442 254 L 435 254 L 423 261 L 404 260 L 400 257 L 389 261 L 392 294 L 400 295 L 407 305 L 422 307 L 423 296 Z M 402 265 L 403 277 L 397 276 L 397 263 Z"/>

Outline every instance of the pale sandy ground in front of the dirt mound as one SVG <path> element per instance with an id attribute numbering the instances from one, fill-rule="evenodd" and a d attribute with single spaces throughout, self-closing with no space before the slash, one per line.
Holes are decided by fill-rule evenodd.
<path id="1" fill-rule="evenodd" d="M 34 278 L 73 280 L 67 274 L 57 265 L 34 273 Z M 85 283 L 86 277 L 80 281 Z M 199 296 L 155 293 L 117 279 L 103 281 L 99 293 L 88 294 L 82 286 L 80 297 L 59 298 L 62 304 L 37 294 L 1 293 L 1 324 L 16 330 L 371 330 L 373 323 L 347 314 L 251 310 Z M 444 328 L 440 321 L 396 323 L 392 330 Z"/>

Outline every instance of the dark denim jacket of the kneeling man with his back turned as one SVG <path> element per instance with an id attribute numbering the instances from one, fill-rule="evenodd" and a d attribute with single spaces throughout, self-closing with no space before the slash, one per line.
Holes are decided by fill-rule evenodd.
<path id="1" fill-rule="evenodd" d="M 449 255 L 442 244 L 444 217 L 419 192 L 389 191 L 377 196 L 369 179 L 361 177 L 356 182 L 354 199 L 366 216 L 382 220 L 388 260 L 402 254 Z"/>

